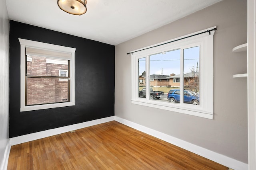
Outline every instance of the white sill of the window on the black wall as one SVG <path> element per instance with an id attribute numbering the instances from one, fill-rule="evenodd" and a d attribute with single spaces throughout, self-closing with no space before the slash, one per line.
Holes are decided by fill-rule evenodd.
<path id="1" fill-rule="evenodd" d="M 24 106 L 20 108 L 20 111 L 32 111 L 40 109 L 50 109 L 56 107 L 66 107 L 66 106 L 75 106 L 74 102 L 64 102 L 64 103 L 54 103 L 54 104 L 43 104 L 43 105 L 34 105 L 34 106 Z"/>

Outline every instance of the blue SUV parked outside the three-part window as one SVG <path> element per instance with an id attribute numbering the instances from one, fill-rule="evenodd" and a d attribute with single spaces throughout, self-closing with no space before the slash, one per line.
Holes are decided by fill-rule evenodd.
<path id="1" fill-rule="evenodd" d="M 167 99 L 172 103 L 180 102 L 180 89 L 170 90 Z M 199 95 L 191 90 L 184 90 L 184 103 L 199 105 Z"/>

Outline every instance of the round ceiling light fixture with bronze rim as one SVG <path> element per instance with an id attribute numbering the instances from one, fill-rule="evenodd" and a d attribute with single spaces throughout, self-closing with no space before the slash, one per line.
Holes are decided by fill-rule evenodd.
<path id="1" fill-rule="evenodd" d="M 58 0 L 58 6 L 61 10 L 73 14 L 82 15 L 86 13 L 86 0 Z"/>

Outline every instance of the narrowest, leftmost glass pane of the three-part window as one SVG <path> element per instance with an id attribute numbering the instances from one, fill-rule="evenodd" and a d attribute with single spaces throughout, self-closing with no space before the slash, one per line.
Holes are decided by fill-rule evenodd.
<path id="1" fill-rule="evenodd" d="M 138 97 L 146 98 L 146 57 L 138 59 Z"/>

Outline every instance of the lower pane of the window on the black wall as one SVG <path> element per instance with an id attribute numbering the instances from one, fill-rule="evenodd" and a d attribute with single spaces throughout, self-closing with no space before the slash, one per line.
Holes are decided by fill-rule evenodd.
<path id="1" fill-rule="evenodd" d="M 60 81 L 59 78 L 28 77 L 26 90 L 26 106 L 69 102 L 68 78 L 65 81 Z"/>

